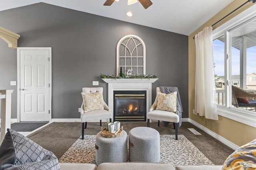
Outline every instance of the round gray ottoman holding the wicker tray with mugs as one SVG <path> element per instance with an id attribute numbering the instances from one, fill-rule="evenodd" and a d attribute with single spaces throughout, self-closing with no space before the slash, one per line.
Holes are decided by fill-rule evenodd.
<path id="1" fill-rule="evenodd" d="M 96 135 L 96 164 L 103 162 L 127 162 L 127 133 L 123 130 L 120 137 L 106 138 L 101 131 Z"/>

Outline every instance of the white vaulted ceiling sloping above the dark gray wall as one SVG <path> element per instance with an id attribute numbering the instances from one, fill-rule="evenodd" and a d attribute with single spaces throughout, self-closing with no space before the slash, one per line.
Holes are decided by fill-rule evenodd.
<path id="1" fill-rule="evenodd" d="M 127 5 L 127 0 L 103 6 L 106 0 L 5 0 L 0 11 L 44 2 L 116 20 L 127 21 L 183 35 L 190 35 L 198 27 L 220 12 L 233 0 L 151 0 L 144 9 L 138 2 Z M 246 2 L 246 0 L 243 0 Z M 244 2 L 241 2 L 244 3 Z M 126 12 L 133 16 L 126 16 Z M 2 25 L 4 27 L 4 25 Z"/>

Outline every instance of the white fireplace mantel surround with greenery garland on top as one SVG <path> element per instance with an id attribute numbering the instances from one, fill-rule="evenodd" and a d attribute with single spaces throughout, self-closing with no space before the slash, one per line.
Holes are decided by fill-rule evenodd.
<path id="1" fill-rule="evenodd" d="M 114 91 L 116 90 L 145 90 L 146 91 L 146 111 L 148 113 L 152 104 L 152 83 L 158 78 L 102 78 L 102 80 L 108 83 L 108 107 L 110 111 L 114 110 Z"/>

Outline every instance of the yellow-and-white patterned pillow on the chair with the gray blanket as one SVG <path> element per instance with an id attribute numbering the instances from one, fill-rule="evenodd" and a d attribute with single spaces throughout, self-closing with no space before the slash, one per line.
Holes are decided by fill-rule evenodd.
<path id="1" fill-rule="evenodd" d="M 177 110 L 177 92 L 172 92 L 170 94 L 160 93 L 157 92 L 158 103 L 157 103 L 157 110 L 166 110 L 176 112 Z"/>

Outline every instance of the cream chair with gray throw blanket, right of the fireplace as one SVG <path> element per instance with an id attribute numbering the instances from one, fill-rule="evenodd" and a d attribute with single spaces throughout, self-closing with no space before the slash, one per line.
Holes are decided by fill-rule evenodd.
<path id="1" fill-rule="evenodd" d="M 173 122 L 175 129 L 175 139 L 178 140 L 178 125 L 181 125 L 182 105 L 180 94 L 177 87 L 160 86 L 156 88 L 156 99 L 147 113 L 148 127 L 150 119 L 160 121 Z"/>

